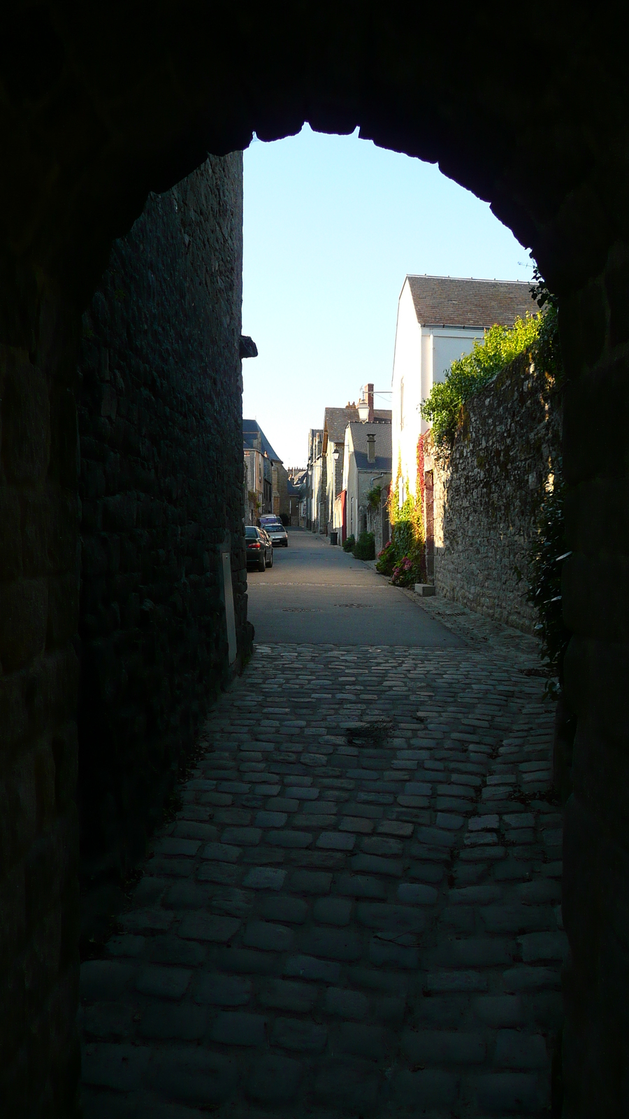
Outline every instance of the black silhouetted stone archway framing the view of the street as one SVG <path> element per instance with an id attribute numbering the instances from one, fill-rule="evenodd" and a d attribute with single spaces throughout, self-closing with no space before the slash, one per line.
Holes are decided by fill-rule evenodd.
<path id="1" fill-rule="evenodd" d="M 112 238 L 207 151 L 358 123 L 480 197 L 561 299 L 570 376 L 567 698 L 579 716 L 565 833 L 572 947 L 566 1113 L 621 1115 L 627 818 L 627 85 L 609 13 L 553 4 L 526 23 L 486 2 L 209 11 L 167 2 L 24 4 L 0 55 L 3 181 L 2 762 L 10 902 L 9 1061 L 30 1113 L 76 1079 L 76 459 L 78 314 Z M 26 495 L 26 496 L 25 496 Z M 16 544 L 17 542 L 17 544 Z M 55 603 L 51 612 L 50 603 Z M 54 624 L 50 628 L 50 619 Z M 625 1104 L 625 1106 L 623 1106 Z"/>

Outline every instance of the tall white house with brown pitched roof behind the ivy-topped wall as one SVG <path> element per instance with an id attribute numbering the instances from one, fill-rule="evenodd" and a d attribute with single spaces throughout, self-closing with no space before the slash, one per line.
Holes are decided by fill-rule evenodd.
<path id="1" fill-rule="evenodd" d="M 430 426 L 420 404 L 432 386 L 495 323 L 511 327 L 518 316 L 537 311 L 526 282 L 406 276 L 397 303 L 392 382 L 392 473 L 395 482 L 400 462 L 401 502 L 406 485 L 415 492 L 417 440 Z"/>

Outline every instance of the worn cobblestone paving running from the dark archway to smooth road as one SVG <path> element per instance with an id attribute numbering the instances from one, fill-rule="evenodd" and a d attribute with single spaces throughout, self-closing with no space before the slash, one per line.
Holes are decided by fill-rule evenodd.
<path id="1" fill-rule="evenodd" d="M 550 1115 L 554 707 L 532 639 L 412 608 L 459 643 L 259 645 L 213 708 L 82 968 L 85 1119 Z"/>

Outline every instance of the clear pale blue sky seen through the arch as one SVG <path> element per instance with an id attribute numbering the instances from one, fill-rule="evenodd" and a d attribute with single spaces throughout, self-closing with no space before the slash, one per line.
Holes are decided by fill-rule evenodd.
<path id="1" fill-rule="evenodd" d="M 528 280 L 528 253 L 436 167 L 370 141 L 302 132 L 244 153 L 243 411 L 284 466 L 306 466 L 323 408 L 391 389 L 409 272 Z M 389 407 L 391 396 L 376 398 Z"/>

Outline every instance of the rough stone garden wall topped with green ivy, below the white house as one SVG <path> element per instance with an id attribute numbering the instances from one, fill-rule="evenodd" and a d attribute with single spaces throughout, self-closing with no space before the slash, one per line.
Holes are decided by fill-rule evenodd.
<path id="1" fill-rule="evenodd" d="M 434 481 L 439 594 L 532 633 L 527 549 L 561 453 L 561 396 L 527 354 L 471 397 L 448 451 L 424 441 Z"/>

